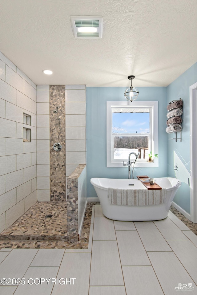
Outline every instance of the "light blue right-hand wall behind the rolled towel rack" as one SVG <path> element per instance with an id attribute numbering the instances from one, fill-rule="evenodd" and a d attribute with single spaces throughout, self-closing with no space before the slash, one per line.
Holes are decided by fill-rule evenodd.
<path id="1" fill-rule="evenodd" d="M 179 76 L 167 87 L 167 103 L 172 100 L 183 100 L 182 115 L 182 141 L 168 140 L 168 176 L 175 177 L 174 172 L 174 151 L 179 155 L 183 164 L 189 171 L 190 167 L 190 105 L 189 87 L 197 82 L 197 63 L 192 65 L 187 71 Z M 168 135 L 172 138 L 172 135 Z M 182 183 L 179 191 L 175 195 L 174 202 L 190 213 L 190 188 L 186 183 Z"/>

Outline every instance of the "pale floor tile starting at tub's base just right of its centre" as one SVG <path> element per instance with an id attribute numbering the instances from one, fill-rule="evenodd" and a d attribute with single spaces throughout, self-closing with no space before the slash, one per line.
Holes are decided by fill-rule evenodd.
<path id="1" fill-rule="evenodd" d="M 172 251 L 155 224 L 135 223 L 146 251 Z"/>

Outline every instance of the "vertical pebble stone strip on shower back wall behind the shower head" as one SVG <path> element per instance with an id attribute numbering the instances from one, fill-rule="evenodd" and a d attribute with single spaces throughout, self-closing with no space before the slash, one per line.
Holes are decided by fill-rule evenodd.
<path id="1" fill-rule="evenodd" d="M 56 109 L 59 107 L 58 109 Z M 57 114 L 53 111 L 57 110 Z M 50 85 L 50 200 L 66 201 L 65 85 Z M 62 144 L 54 151 L 54 143 Z"/>

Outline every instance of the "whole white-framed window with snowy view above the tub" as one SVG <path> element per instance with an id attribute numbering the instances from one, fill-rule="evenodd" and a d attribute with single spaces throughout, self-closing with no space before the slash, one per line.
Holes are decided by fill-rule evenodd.
<path id="1" fill-rule="evenodd" d="M 123 167 L 131 152 L 140 152 L 135 167 L 158 167 L 150 151 L 158 153 L 158 102 L 107 101 L 107 167 Z"/>

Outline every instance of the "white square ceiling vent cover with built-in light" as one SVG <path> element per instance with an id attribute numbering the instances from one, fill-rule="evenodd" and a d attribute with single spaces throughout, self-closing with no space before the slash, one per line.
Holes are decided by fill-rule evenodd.
<path id="1" fill-rule="evenodd" d="M 99 39 L 103 33 L 102 16 L 71 16 L 73 35 L 80 39 Z"/>

